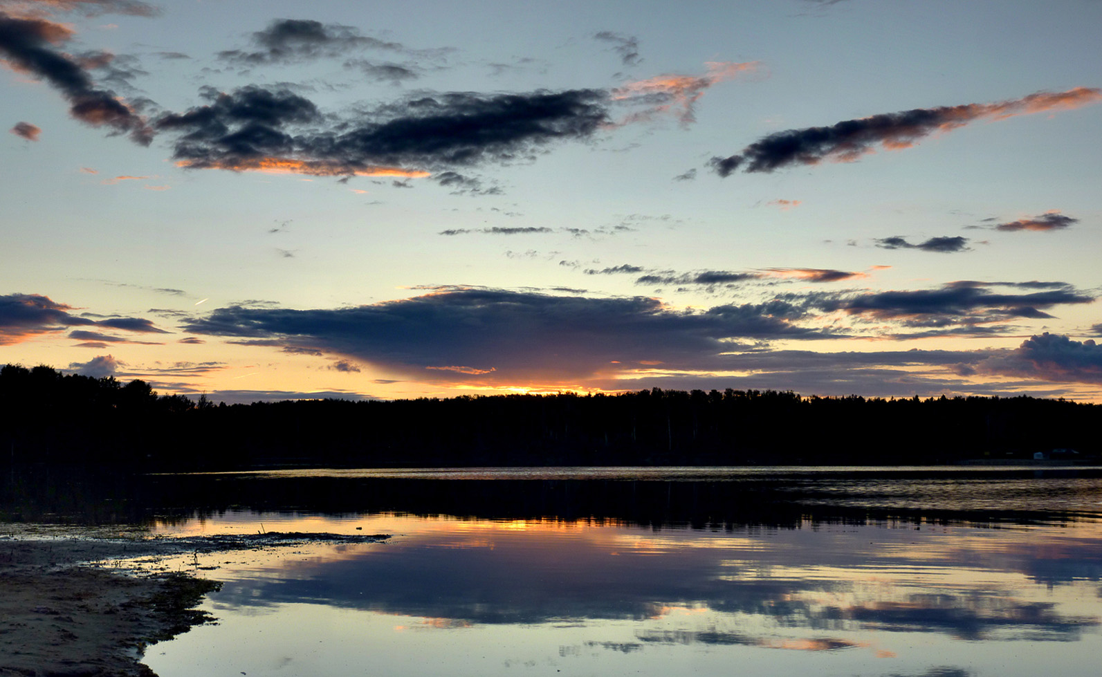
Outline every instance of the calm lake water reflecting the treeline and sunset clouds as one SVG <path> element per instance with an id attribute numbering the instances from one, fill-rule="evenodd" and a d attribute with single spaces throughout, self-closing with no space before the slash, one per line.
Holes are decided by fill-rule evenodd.
<path id="1" fill-rule="evenodd" d="M 171 501 L 151 509 L 166 513 L 153 522 L 165 534 L 393 537 L 176 563 L 217 567 L 201 572 L 225 581 L 206 602 L 219 622 L 153 645 L 145 662 L 161 677 L 1093 677 L 1100 478 L 1096 469 L 174 478 L 192 492 L 188 482 L 205 487 L 208 506 L 191 516 Z"/>

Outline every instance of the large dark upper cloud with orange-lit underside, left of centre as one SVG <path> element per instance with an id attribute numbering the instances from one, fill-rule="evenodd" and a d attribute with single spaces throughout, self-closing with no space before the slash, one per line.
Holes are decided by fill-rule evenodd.
<path id="1" fill-rule="evenodd" d="M 177 164 L 318 175 L 423 176 L 424 170 L 508 162 L 592 137 L 607 122 L 599 90 L 420 96 L 318 128 L 313 102 L 257 86 L 204 91 L 209 103 L 156 121 L 181 134 Z"/>

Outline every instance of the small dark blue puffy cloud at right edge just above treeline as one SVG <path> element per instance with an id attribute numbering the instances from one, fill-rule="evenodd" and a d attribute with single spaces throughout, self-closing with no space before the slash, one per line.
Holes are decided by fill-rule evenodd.
<path id="1" fill-rule="evenodd" d="M 1092 339 L 1076 341 L 1046 331 L 1026 339 L 1008 354 L 984 360 L 979 370 L 1041 381 L 1102 383 L 1102 346 Z"/>

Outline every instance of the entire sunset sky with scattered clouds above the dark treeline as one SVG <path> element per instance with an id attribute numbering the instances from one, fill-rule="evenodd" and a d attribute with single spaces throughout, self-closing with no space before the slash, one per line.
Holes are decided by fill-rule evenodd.
<path id="1" fill-rule="evenodd" d="M 1102 1 L 0 0 L 0 363 L 1102 402 Z"/>

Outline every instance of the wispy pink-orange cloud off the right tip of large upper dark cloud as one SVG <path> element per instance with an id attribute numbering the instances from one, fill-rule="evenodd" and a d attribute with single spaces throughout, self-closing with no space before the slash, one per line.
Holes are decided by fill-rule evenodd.
<path id="1" fill-rule="evenodd" d="M 614 89 L 613 100 L 649 105 L 647 110 L 628 116 L 623 124 L 648 120 L 671 111 L 679 111 L 678 119 L 682 124 L 695 122 L 694 105 L 709 87 L 754 70 L 758 63 L 707 62 L 704 65 L 707 67 L 707 73 L 704 75 L 659 75 Z"/>

